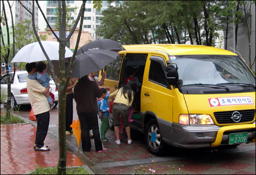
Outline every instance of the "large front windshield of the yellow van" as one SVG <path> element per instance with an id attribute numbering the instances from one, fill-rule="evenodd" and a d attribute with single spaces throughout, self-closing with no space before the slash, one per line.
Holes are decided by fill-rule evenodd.
<path id="1" fill-rule="evenodd" d="M 255 86 L 255 77 L 238 56 L 186 55 L 172 57 L 171 62 L 177 64 L 183 85 L 241 83 Z"/>

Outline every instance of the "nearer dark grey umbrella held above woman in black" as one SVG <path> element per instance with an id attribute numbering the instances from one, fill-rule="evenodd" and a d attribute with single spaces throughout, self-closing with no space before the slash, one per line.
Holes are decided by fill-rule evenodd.
<path id="1" fill-rule="evenodd" d="M 108 50 L 92 50 L 79 54 L 75 58 L 75 65 L 71 74 L 71 78 L 81 78 L 103 69 L 107 64 L 116 60 L 118 52 Z"/>

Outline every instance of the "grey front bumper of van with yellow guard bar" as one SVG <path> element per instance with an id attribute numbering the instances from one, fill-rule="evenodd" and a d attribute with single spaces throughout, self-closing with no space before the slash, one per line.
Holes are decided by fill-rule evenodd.
<path id="1" fill-rule="evenodd" d="M 228 145 L 230 133 L 247 132 L 247 143 L 255 142 L 255 122 L 234 126 L 184 126 L 173 123 L 171 130 L 161 132 L 164 142 L 183 148 L 203 148 Z M 162 134 L 163 133 L 163 134 Z"/>

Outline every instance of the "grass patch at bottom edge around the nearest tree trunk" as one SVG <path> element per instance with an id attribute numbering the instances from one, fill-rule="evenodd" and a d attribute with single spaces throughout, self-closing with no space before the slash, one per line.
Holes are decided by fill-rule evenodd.
<path id="1" fill-rule="evenodd" d="M 57 171 L 58 171 L 57 167 L 46 167 L 46 168 L 37 167 L 35 171 L 31 172 L 30 174 L 57 174 Z M 66 173 L 67 174 L 90 174 L 83 167 L 67 168 Z"/>

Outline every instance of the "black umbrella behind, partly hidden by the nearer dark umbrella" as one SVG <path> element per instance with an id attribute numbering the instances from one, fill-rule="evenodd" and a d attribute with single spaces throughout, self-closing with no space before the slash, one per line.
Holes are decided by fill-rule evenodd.
<path id="1" fill-rule="evenodd" d="M 91 41 L 87 44 L 84 44 L 76 53 L 76 55 L 82 54 L 84 52 L 97 50 L 97 49 L 103 49 L 103 50 L 109 50 L 109 51 L 123 51 L 124 48 L 119 44 L 118 42 L 112 40 L 112 39 L 100 39 Z"/>

